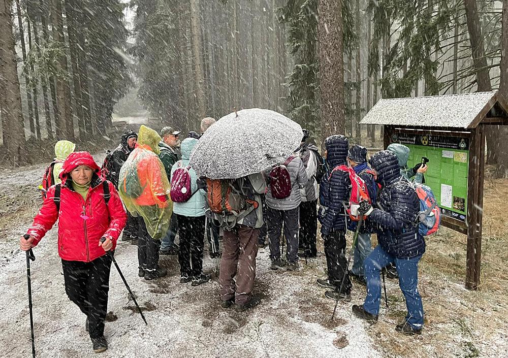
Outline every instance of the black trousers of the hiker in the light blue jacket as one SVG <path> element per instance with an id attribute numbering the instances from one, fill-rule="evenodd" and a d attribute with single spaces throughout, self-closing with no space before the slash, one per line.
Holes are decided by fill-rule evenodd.
<path id="1" fill-rule="evenodd" d="M 180 275 L 198 278 L 203 271 L 205 216 L 176 216 L 180 232 L 180 249 L 178 250 Z"/>

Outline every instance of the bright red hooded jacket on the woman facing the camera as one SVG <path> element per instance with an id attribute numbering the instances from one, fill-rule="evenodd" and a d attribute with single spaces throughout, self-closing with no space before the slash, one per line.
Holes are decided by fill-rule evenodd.
<path id="1" fill-rule="evenodd" d="M 72 188 L 69 173 L 80 165 L 92 168 L 93 174 L 86 200 Z M 27 234 L 35 237 L 37 245 L 56 220 L 58 223 L 58 254 L 68 261 L 90 262 L 106 254 L 99 246 L 102 237 L 111 239 L 112 250 L 116 247 L 116 240 L 120 236 L 127 216 L 123 210 L 118 192 L 111 182 L 108 182 L 111 198 L 108 205 L 104 201 L 104 181 L 99 175 L 100 168 L 88 152 L 73 152 L 63 162 L 60 192 L 60 212 L 54 203 L 55 185 L 48 190 L 44 204 L 36 215 L 34 223 Z"/>

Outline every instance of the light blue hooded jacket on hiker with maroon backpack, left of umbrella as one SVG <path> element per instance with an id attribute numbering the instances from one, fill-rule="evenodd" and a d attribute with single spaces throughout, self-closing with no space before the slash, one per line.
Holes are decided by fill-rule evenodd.
<path id="1" fill-rule="evenodd" d="M 173 174 L 178 168 L 185 168 L 189 165 L 190 153 L 198 143 L 197 139 L 186 138 L 180 144 L 182 151 L 182 159 L 178 160 L 171 168 L 171 179 L 173 180 Z M 190 173 L 190 192 L 195 194 L 190 197 L 185 203 L 174 203 L 173 212 L 183 216 L 204 216 L 205 215 L 205 204 L 206 204 L 206 191 L 203 189 L 198 190 L 198 176 L 194 169 L 189 169 Z M 197 190 L 197 191 L 196 191 Z"/>

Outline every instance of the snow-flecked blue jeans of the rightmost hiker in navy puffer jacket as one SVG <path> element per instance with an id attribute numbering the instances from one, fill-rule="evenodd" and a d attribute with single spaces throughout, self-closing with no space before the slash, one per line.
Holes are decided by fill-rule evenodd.
<path id="1" fill-rule="evenodd" d="M 423 326 L 422 297 L 418 292 L 418 263 L 422 255 L 411 258 L 397 258 L 386 253 L 379 245 L 365 259 L 367 297 L 363 308 L 370 314 L 379 313 L 381 302 L 380 272 L 389 263 L 395 263 L 399 273 L 399 286 L 406 299 L 406 322 L 415 329 Z"/>

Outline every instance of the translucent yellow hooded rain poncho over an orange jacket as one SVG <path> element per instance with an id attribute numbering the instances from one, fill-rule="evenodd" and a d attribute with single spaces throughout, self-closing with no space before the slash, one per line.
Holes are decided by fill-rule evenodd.
<path id="1" fill-rule="evenodd" d="M 118 192 L 125 207 L 134 216 L 143 217 L 154 239 L 166 235 L 173 212 L 170 183 L 158 158 L 160 141 L 157 132 L 142 125 L 138 144 L 123 164 L 118 181 Z"/>

